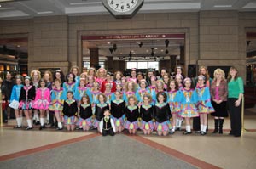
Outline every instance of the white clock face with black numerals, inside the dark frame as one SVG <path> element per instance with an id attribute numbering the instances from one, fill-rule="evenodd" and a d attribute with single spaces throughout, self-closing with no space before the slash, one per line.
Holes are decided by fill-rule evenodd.
<path id="1" fill-rule="evenodd" d="M 136 8 L 138 0 L 108 0 L 108 5 L 113 11 L 126 13 Z"/>

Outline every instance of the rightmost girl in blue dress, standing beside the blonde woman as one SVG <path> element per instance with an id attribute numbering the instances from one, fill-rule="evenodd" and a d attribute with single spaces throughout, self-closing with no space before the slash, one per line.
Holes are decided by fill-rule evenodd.
<path id="1" fill-rule="evenodd" d="M 211 94 L 210 89 L 205 85 L 206 77 L 201 75 L 197 77 L 197 87 L 195 87 L 195 91 L 198 96 L 197 109 L 200 115 L 200 131 L 201 135 L 207 134 L 207 114 L 214 112 L 211 103 Z"/>

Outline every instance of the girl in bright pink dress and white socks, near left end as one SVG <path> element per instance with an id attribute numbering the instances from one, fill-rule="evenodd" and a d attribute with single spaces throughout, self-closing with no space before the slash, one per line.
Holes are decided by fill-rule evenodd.
<path id="1" fill-rule="evenodd" d="M 49 108 L 50 102 L 50 91 L 49 88 L 46 87 L 46 81 L 43 79 L 39 81 L 39 88 L 36 91 L 36 98 L 33 104 L 33 108 L 40 111 L 40 128 L 42 130 L 44 126 L 44 116 L 46 110 Z"/>

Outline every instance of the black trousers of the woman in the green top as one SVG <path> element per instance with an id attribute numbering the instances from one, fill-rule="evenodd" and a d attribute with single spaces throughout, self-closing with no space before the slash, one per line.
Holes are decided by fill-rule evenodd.
<path id="1" fill-rule="evenodd" d="M 241 136 L 241 104 L 236 107 L 237 98 L 229 98 L 228 106 L 230 112 L 230 133 L 234 136 Z"/>

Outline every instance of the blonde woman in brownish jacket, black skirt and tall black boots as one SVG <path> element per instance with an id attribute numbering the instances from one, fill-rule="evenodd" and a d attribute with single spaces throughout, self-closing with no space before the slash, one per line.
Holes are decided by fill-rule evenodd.
<path id="1" fill-rule="evenodd" d="M 212 106 L 215 110 L 211 115 L 214 116 L 214 131 L 213 133 L 223 133 L 224 117 L 228 117 L 228 111 L 226 108 L 228 97 L 228 86 L 225 80 L 224 70 L 214 70 L 214 79 L 211 84 L 211 99 Z"/>

